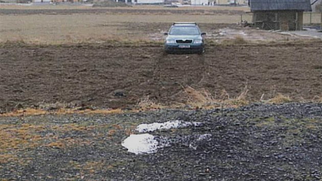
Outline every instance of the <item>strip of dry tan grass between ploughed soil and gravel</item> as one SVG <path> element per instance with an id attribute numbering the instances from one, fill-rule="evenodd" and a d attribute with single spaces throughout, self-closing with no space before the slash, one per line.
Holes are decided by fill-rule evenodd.
<path id="1" fill-rule="evenodd" d="M 7 112 L 5 114 L 0 114 L 0 117 L 24 117 L 24 116 L 40 116 L 40 115 L 69 115 L 69 114 L 98 114 L 98 115 L 108 115 L 108 114 L 123 114 L 125 112 L 139 112 L 139 111 L 149 111 L 149 110 L 158 110 L 158 109 L 172 109 L 172 108 L 181 108 L 185 109 L 188 107 L 194 108 L 218 108 L 218 107 L 239 107 L 244 106 L 250 103 L 250 100 L 247 98 L 248 94 L 247 85 L 242 88 L 240 94 L 236 97 L 230 97 L 229 94 L 222 90 L 220 94 L 216 96 L 212 96 L 209 90 L 205 88 L 195 89 L 191 86 L 183 87 L 183 94 L 187 97 L 187 101 L 185 103 L 177 103 L 173 102 L 170 105 L 163 105 L 156 103 L 149 99 L 149 96 L 141 99 L 139 103 L 132 110 L 122 110 L 122 109 L 84 109 L 80 110 L 80 107 L 77 108 L 59 108 L 55 110 L 43 110 L 43 109 L 34 109 L 34 108 L 26 108 L 20 109 L 13 112 Z M 264 96 L 264 95 L 263 95 Z M 262 98 L 259 100 L 263 103 L 270 104 L 281 104 L 291 102 L 292 99 L 289 96 L 285 96 L 282 94 L 277 94 L 273 98 L 268 100 L 263 100 Z M 304 100 L 303 102 L 316 102 L 322 103 L 322 97 L 315 96 L 312 100 Z M 251 101 L 251 102 L 254 102 Z M 78 126 L 78 125 L 64 125 L 63 130 L 87 130 L 92 129 L 91 126 Z M 112 127 L 116 130 L 121 130 L 123 127 L 118 124 L 113 124 Z M 0 130 L 2 127 L 0 127 Z M 40 127 L 41 129 L 41 127 Z M 53 129 L 61 129 L 58 127 L 53 127 Z M 130 130 L 128 131 L 130 132 Z M 1 136 L 2 134 L 0 134 Z M 4 135 L 2 135 L 4 136 Z M 26 137 L 28 138 L 28 137 Z M 1 142 L 0 142 L 1 144 Z"/>

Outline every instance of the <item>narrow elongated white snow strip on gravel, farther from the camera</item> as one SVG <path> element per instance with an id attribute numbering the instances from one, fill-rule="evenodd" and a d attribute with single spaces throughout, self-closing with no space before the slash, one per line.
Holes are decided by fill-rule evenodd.
<path id="1" fill-rule="evenodd" d="M 182 128 L 188 126 L 201 126 L 200 122 L 185 122 L 185 121 L 167 121 L 164 123 L 151 123 L 151 124 L 140 124 L 135 130 L 139 132 L 152 132 L 160 129 L 172 129 L 172 128 Z"/>

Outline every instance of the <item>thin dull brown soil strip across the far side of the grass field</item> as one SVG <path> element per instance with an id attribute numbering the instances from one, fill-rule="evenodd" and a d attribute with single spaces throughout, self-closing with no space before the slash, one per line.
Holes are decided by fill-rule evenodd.
<path id="1" fill-rule="evenodd" d="M 245 14 L 241 10 L 169 10 L 169 9 L 0 9 L 0 14 L 79 14 L 79 13 L 130 13 L 130 14 L 228 14 L 238 15 Z"/>

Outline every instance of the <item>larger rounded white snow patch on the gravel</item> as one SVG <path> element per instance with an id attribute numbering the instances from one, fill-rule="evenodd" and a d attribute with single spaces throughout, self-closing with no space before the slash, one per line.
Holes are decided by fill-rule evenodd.
<path id="1" fill-rule="evenodd" d="M 122 142 L 122 146 L 128 149 L 129 152 L 135 154 L 155 153 L 158 148 L 163 148 L 166 145 L 158 145 L 154 140 L 154 136 L 148 133 L 131 134 Z"/>

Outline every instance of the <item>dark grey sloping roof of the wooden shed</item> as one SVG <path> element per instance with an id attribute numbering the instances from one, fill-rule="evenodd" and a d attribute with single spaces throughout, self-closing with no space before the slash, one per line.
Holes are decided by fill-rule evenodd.
<path id="1" fill-rule="evenodd" d="M 250 11 L 312 11 L 310 0 L 249 0 Z"/>

